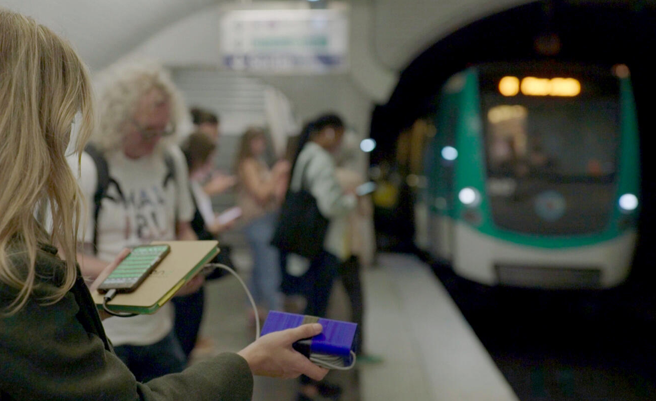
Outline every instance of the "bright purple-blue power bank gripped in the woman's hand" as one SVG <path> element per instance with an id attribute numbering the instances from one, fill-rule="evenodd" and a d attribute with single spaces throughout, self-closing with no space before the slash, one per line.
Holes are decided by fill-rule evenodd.
<path id="1" fill-rule="evenodd" d="M 266 322 L 262 327 L 262 335 L 308 323 L 321 324 L 323 331 L 321 331 L 321 334 L 309 339 L 297 341 L 293 345 L 294 349 L 308 356 L 308 358 L 310 354 L 342 356 L 344 357 L 344 364 L 348 366 L 351 360 L 350 353 L 353 338 L 356 335 L 356 329 L 358 329 L 358 325 L 355 323 L 272 310 L 266 316 Z"/>

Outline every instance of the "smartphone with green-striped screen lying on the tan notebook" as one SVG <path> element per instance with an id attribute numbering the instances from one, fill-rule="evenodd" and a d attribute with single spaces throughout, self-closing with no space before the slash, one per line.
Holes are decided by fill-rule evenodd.
<path id="1" fill-rule="evenodd" d="M 98 286 L 98 292 L 106 293 L 110 289 L 116 289 L 118 293 L 134 291 L 170 251 L 169 245 L 135 247 Z"/>

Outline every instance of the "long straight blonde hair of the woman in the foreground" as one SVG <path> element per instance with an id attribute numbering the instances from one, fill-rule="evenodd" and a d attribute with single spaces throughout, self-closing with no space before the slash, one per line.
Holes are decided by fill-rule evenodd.
<path id="1" fill-rule="evenodd" d="M 30 297 L 56 303 L 75 282 L 81 193 L 66 147 L 77 112 L 78 155 L 91 135 L 92 90 L 87 68 L 66 41 L 4 9 L 0 75 L 0 285 L 16 290 L 0 314 L 13 314 Z M 50 235 L 35 219 L 39 205 L 50 207 Z M 39 243 L 56 244 L 68 257 L 52 291 L 37 281 Z"/>

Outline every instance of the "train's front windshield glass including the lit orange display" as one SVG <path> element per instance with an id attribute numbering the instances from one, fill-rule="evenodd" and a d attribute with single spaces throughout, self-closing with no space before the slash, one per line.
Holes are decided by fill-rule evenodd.
<path id="1" fill-rule="evenodd" d="M 619 146 L 617 79 L 531 77 L 531 87 L 517 75 L 482 77 L 489 177 L 612 180 Z M 548 91 L 556 95 L 544 95 Z"/>

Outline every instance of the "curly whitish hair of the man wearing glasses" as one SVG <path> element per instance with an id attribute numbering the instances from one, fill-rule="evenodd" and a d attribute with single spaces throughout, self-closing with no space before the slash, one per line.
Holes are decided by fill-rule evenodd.
<path id="1" fill-rule="evenodd" d="M 139 100 L 153 89 L 161 91 L 169 102 L 171 123 L 175 127 L 190 119 L 169 73 L 154 60 L 126 58 L 98 74 L 98 127 L 91 140 L 99 150 L 112 152 L 121 148 L 125 124 L 134 117 Z M 174 140 L 165 138 L 160 142 Z"/>

